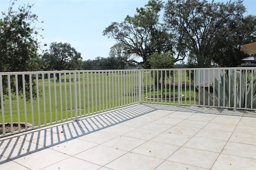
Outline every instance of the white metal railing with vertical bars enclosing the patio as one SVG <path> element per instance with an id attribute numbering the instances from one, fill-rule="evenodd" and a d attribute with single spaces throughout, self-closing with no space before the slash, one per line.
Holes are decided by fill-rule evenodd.
<path id="1" fill-rule="evenodd" d="M 255 102 L 253 67 L 7 72 L 0 137 L 136 103 L 255 111 Z"/>

